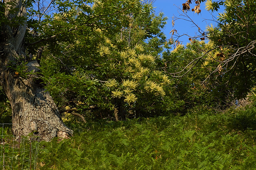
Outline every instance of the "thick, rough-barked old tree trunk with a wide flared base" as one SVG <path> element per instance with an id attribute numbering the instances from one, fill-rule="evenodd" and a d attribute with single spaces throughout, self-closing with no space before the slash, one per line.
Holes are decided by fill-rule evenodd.
<path id="1" fill-rule="evenodd" d="M 11 0 L 5 2 L 8 1 L 11 2 Z M 15 8 L 16 14 L 10 12 L 10 9 Z M 17 16 L 26 17 L 26 5 L 21 0 L 17 0 L 16 5 L 7 5 L 5 16 L 9 20 L 15 20 Z M 15 72 L 14 68 L 26 58 L 24 50 L 26 20 L 19 23 L 15 28 L 2 24 L 0 32 L 2 34 L 0 35 L 0 85 L 12 106 L 13 133 L 17 138 L 34 133 L 41 140 L 46 141 L 56 136 L 68 138 L 72 135 L 72 130 L 64 125 L 50 94 L 35 82 L 36 73 L 20 76 L 20 73 Z"/>

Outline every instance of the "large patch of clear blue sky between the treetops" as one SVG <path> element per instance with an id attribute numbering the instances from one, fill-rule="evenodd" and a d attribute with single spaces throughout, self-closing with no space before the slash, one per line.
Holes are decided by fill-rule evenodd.
<path id="1" fill-rule="evenodd" d="M 172 16 L 176 16 L 176 18 L 185 18 L 184 16 L 181 16 L 181 14 L 184 14 L 182 10 L 182 4 L 185 3 L 186 0 L 156 0 L 153 4 L 154 10 L 156 13 L 163 12 L 165 16 L 168 17 L 167 25 L 164 28 L 164 33 L 166 34 L 167 38 L 171 38 L 170 32 L 172 29 L 176 29 L 179 35 L 182 34 L 188 34 L 189 36 L 195 36 L 199 35 L 198 28 L 195 27 L 192 22 L 188 22 L 186 20 L 178 19 L 174 22 L 174 27 L 172 27 Z M 190 4 L 190 11 L 188 11 L 186 14 L 196 23 L 198 26 L 205 30 L 207 25 L 210 25 L 211 23 L 215 25 L 214 21 L 216 20 L 216 16 L 218 13 L 223 12 L 224 8 L 221 7 L 218 12 L 212 13 L 211 11 L 207 11 L 205 9 L 204 3 L 201 3 L 200 9 L 202 10 L 200 14 L 195 14 L 191 11 L 192 8 L 194 8 L 196 4 L 193 2 Z M 188 18 L 186 18 L 188 19 Z M 175 38 L 175 37 L 174 37 Z M 179 40 L 182 42 L 182 44 L 186 45 L 188 40 L 188 36 L 182 36 L 179 38 Z"/>

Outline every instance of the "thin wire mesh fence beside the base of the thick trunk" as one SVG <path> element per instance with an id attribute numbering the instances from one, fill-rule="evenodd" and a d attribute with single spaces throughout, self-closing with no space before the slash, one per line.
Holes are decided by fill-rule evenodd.
<path id="1" fill-rule="evenodd" d="M 16 136 L 11 132 L 12 124 L 0 124 L 0 169 L 36 170 L 39 150 L 38 136 Z"/>

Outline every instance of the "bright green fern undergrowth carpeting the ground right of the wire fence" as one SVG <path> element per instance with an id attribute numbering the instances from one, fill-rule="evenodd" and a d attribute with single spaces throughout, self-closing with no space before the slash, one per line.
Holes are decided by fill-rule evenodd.
<path id="1" fill-rule="evenodd" d="M 90 122 L 42 142 L 40 170 L 253 170 L 256 108 Z"/>

